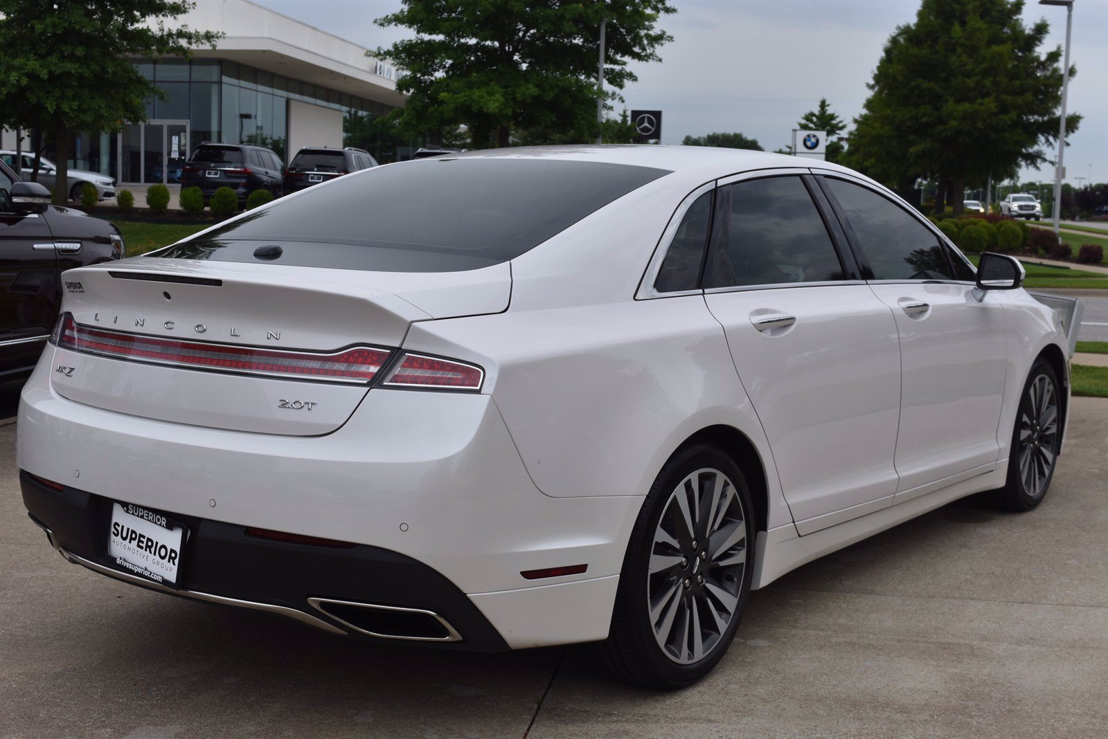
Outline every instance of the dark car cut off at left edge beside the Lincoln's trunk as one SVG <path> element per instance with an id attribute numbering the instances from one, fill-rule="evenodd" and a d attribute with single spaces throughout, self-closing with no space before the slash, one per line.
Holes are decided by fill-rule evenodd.
<path id="1" fill-rule="evenodd" d="M 58 320 L 62 285 L 74 267 L 123 256 L 114 225 L 50 205 L 50 190 L 24 183 L 0 162 L 0 381 L 34 368 Z"/>

